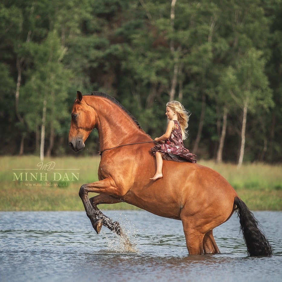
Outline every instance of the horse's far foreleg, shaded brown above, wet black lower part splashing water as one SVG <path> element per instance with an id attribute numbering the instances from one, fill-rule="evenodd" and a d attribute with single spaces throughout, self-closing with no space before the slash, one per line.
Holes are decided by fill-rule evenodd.
<path id="1" fill-rule="evenodd" d="M 99 219 L 102 219 L 102 225 L 108 227 L 111 231 L 115 232 L 118 235 L 121 235 L 120 225 L 117 221 L 113 222 L 112 219 L 105 216 L 97 207 L 99 204 L 117 204 L 123 202 L 120 199 L 115 199 L 109 195 L 99 194 L 89 199 L 90 203 L 94 210 L 98 213 Z"/>

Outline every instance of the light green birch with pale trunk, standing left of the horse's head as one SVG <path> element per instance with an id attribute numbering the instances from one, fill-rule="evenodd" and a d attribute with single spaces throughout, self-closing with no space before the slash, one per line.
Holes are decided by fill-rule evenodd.
<path id="1" fill-rule="evenodd" d="M 22 87 L 24 97 L 21 111 L 26 117 L 30 131 L 37 131 L 37 128 L 41 127 L 40 157 L 43 160 L 46 127 L 48 126 L 50 130 L 49 150 L 51 151 L 54 134 L 60 131 L 60 123 L 68 115 L 67 109 L 62 109 L 61 105 L 66 101 L 67 84 L 71 76 L 61 63 L 64 50 L 61 48 L 56 31 L 49 32 L 46 40 L 41 44 L 32 44 L 30 51 L 34 70 L 28 76 L 28 82 Z"/>

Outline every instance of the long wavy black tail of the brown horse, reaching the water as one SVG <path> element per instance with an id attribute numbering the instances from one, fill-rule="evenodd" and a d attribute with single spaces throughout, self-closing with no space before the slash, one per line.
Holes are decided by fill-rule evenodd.
<path id="1" fill-rule="evenodd" d="M 236 211 L 240 219 L 241 231 L 247 245 L 248 254 L 250 256 L 271 255 L 271 245 L 266 236 L 258 228 L 259 223 L 254 218 L 253 213 L 238 197 L 235 198 L 234 203 L 237 206 Z"/>

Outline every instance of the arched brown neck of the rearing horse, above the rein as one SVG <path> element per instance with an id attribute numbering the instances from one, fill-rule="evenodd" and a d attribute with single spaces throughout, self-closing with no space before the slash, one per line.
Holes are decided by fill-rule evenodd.
<path id="1" fill-rule="evenodd" d="M 98 115 L 96 128 L 101 150 L 123 144 L 151 141 L 151 137 L 118 105 L 106 98 L 92 97 L 99 99 L 93 108 Z"/>

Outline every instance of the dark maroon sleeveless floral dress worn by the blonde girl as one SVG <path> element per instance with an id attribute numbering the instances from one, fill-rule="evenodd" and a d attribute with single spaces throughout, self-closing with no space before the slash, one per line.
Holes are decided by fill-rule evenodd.
<path id="1" fill-rule="evenodd" d="M 154 155 L 156 152 L 166 153 L 162 154 L 164 160 L 197 162 L 193 159 L 196 155 L 190 153 L 183 145 L 181 128 L 177 120 L 174 120 L 174 129 L 171 131 L 170 137 L 164 141 L 164 144 L 157 144 L 152 147 L 151 151 Z"/>

